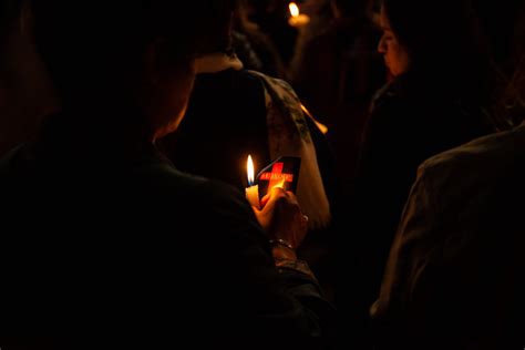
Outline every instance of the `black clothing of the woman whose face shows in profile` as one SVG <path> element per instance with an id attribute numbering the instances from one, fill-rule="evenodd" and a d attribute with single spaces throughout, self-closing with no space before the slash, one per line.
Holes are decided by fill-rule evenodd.
<path id="1" fill-rule="evenodd" d="M 368 309 L 378 297 L 418 166 L 432 155 L 494 132 L 480 107 L 461 105 L 437 89 L 411 87 L 400 78 L 374 101 L 349 196 L 350 227 L 344 227 L 352 236 L 354 260 L 347 278 L 357 282 L 349 291 L 356 327 L 367 322 Z"/>

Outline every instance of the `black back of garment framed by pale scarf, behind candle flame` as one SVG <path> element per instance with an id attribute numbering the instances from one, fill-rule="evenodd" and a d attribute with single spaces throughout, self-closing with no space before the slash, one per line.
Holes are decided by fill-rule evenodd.
<path id="1" fill-rule="evenodd" d="M 183 172 L 247 185 L 246 159 L 270 163 L 262 83 L 233 69 L 197 75 L 186 116 L 162 144 Z"/>

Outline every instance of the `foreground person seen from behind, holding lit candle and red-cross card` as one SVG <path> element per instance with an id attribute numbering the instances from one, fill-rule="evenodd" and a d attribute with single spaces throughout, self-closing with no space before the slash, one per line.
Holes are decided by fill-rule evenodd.
<path id="1" fill-rule="evenodd" d="M 68 349 L 329 346 L 333 308 L 295 254 L 296 198 L 275 188 L 255 215 L 239 191 L 179 172 L 156 146 L 207 50 L 206 4 L 33 2 L 61 107 L 0 159 L 11 325 L 60 329 Z"/>

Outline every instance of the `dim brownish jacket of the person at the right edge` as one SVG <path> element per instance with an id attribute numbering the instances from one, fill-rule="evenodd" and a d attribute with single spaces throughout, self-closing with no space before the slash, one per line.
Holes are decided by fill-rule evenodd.
<path id="1" fill-rule="evenodd" d="M 525 344 L 525 125 L 423 163 L 372 308 L 379 349 Z"/>

